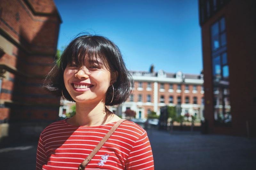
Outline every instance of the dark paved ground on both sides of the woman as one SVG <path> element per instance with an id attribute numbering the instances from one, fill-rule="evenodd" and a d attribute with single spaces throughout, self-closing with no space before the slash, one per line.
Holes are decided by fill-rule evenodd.
<path id="1" fill-rule="evenodd" d="M 148 130 L 156 170 L 256 169 L 256 139 Z M 0 169 L 34 170 L 37 142 L 0 148 Z"/>

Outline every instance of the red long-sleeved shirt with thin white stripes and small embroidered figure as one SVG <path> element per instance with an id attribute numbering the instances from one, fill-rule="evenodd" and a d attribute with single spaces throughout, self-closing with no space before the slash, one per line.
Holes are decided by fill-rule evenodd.
<path id="1" fill-rule="evenodd" d="M 84 127 L 70 125 L 66 120 L 52 123 L 41 133 L 36 170 L 78 169 L 114 124 Z M 147 132 L 133 122 L 124 121 L 85 169 L 153 170 Z"/>

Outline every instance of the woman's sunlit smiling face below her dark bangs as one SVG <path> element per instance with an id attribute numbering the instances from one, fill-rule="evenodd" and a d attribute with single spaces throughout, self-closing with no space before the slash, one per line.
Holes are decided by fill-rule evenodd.
<path id="1" fill-rule="evenodd" d="M 103 65 L 103 64 L 101 64 Z M 108 87 L 116 81 L 116 75 L 98 64 L 70 63 L 64 70 L 64 83 L 70 96 L 79 103 L 105 102 Z"/>

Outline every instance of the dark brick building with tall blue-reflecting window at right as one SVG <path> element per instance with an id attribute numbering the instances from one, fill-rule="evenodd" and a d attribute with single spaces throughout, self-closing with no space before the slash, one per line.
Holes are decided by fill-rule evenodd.
<path id="1" fill-rule="evenodd" d="M 256 2 L 198 2 L 209 132 L 256 136 Z"/>

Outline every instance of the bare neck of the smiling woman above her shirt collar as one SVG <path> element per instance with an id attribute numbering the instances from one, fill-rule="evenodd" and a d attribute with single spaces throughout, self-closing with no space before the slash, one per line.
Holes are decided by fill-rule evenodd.
<path id="1" fill-rule="evenodd" d="M 77 103 L 76 115 L 68 119 L 68 123 L 76 126 L 100 126 L 106 124 L 113 117 L 104 102 L 96 104 Z"/>

